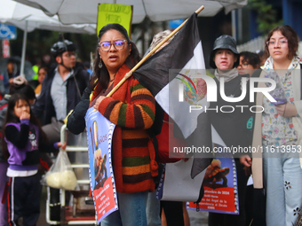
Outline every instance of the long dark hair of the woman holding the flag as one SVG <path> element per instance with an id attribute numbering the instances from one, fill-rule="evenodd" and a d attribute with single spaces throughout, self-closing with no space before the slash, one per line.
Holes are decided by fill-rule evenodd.
<path id="1" fill-rule="evenodd" d="M 127 30 L 122 25 L 107 24 L 106 26 L 102 27 L 99 31 L 98 47 L 97 47 L 97 51 L 96 51 L 97 58 L 94 61 L 93 74 L 92 74 L 92 78 L 91 78 L 92 90 L 95 88 L 97 83 L 100 84 L 99 86 L 97 86 L 97 90 L 96 90 L 97 93 L 99 93 L 100 90 L 102 90 L 103 88 L 107 88 L 107 85 L 108 85 L 109 80 L 110 80 L 110 76 L 109 76 L 109 73 L 107 71 L 107 67 L 103 64 L 103 66 L 101 68 L 99 68 L 99 62 L 100 62 L 100 58 L 99 58 L 99 40 L 109 30 L 116 30 L 116 31 L 120 32 L 124 36 L 125 40 L 127 40 L 127 43 L 131 44 L 131 54 L 125 60 L 125 64 L 127 66 L 129 66 L 129 68 L 133 68 L 133 66 L 138 64 L 139 60 L 141 59 L 140 56 L 139 56 L 139 51 L 138 51 L 136 45 L 131 42 L 131 40 L 130 40 L 128 34 L 127 34 Z M 98 81 L 98 82 L 96 82 L 96 81 Z"/>

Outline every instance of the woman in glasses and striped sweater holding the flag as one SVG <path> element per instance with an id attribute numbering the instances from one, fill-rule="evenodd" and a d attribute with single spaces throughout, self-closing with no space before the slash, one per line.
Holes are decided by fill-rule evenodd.
<path id="1" fill-rule="evenodd" d="M 106 97 L 140 57 L 119 24 L 102 27 L 98 43 L 91 88 L 84 91 L 68 117 L 68 129 L 75 134 L 83 132 L 89 107 L 115 123 L 112 156 L 119 209 L 107 215 L 101 226 L 147 226 L 147 194 L 155 190 L 153 177 L 158 173 L 155 148 L 147 134 L 155 120 L 155 98 L 133 76 Z"/>

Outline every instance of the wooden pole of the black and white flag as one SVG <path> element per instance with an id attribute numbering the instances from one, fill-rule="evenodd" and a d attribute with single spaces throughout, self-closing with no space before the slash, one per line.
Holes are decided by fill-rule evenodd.
<path id="1" fill-rule="evenodd" d="M 197 11 L 195 11 L 195 13 L 199 14 L 200 12 L 203 11 L 203 9 L 204 9 L 204 6 L 202 5 Z M 151 55 L 153 55 L 155 53 L 155 51 L 157 51 L 158 48 L 160 48 L 163 45 L 163 43 L 167 42 L 171 38 L 171 36 L 175 35 L 180 30 L 180 28 L 183 27 L 186 24 L 186 22 L 187 22 L 187 19 L 181 25 L 179 25 L 179 27 L 177 27 L 175 30 L 173 30 L 170 35 L 166 36 L 161 43 L 156 45 L 155 49 L 150 51 L 144 58 L 142 58 L 139 61 L 139 63 L 131 69 L 130 72 L 128 72 L 127 74 L 125 74 L 123 76 L 123 79 L 120 82 L 117 83 L 117 85 L 107 94 L 106 97 L 111 97 L 111 95 L 114 94 L 114 92 L 123 84 L 123 82 L 125 82 L 132 75 L 132 73 L 136 69 L 138 69 L 138 67 L 141 66 L 142 63 L 144 63 L 146 61 L 147 58 L 149 58 Z"/>

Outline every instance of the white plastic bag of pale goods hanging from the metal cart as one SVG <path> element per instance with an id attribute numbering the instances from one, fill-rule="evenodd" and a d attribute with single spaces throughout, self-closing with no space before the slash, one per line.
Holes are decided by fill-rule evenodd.
<path id="1" fill-rule="evenodd" d="M 52 188 L 70 191 L 76 189 L 76 175 L 71 168 L 67 152 L 59 152 L 57 159 L 45 175 L 45 181 Z"/>

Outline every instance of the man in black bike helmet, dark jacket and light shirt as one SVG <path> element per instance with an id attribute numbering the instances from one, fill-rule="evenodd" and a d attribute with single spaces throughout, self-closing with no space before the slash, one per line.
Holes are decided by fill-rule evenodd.
<path id="1" fill-rule="evenodd" d="M 52 55 L 58 63 L 47 73 L 33 113 L 44 125 L 50 142 L 60 141 L 60 128 L 68 113 L 80 101 L 90 75 L 76 62 L 76 45 L 68 40 L 52 45 Z"/>

